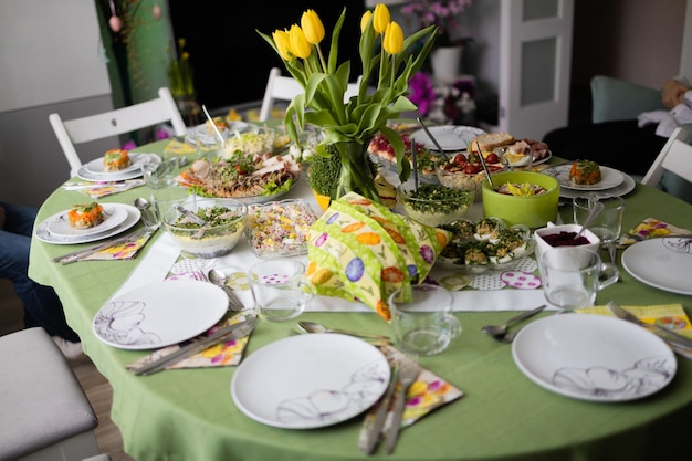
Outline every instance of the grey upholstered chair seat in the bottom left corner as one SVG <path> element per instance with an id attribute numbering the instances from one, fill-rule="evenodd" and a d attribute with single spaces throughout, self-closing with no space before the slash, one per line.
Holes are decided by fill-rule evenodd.
<path id="1" fill-rule="evenodd" d="M 0 337 L 0 460 L 82 461 L 101 454 L 80 381 L 40 327 Z"/>

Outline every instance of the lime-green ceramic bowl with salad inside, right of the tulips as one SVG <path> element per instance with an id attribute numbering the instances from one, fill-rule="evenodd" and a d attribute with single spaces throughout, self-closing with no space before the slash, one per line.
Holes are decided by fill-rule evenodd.
<path id="1" fill-rule="evenodd" d="M 483 216 L 502 218 L 507 226 L 524 224 L 543 228 L 557 218 L 559 182 L 548 175 L 533 171 L 505 171 L 492 176 L 495 188 L 506 184 L 530 184 L 546 189 L 534 196 L 510 196 L 493 190 L 487 179 L 481 185 Z"/>

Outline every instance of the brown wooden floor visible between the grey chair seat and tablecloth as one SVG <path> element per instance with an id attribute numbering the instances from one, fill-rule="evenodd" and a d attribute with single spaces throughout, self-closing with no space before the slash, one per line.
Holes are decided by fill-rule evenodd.
<path id="1" fill-rule="evenodd" d="M 0 279 L 0 336 L 22 329 L 22 304 L 14 294 L 12 284 L 7 280 Z M 96 442 L 101 452 L 107 453 L 113 461 L 134 461 L 123 450 L 120 431 L 111 421 L 111 401 L 113 398 L 111 385 L 98 373 L 88 357 L 71 364 L 98 417 Z"/>

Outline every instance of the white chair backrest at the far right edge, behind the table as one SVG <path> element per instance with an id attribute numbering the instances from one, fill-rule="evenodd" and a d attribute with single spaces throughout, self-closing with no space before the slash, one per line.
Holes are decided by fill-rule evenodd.
<path id="1" fill-rule="evenodd" d="M 692 146 L 685 143 L 688 130 L 678 127 L 659 153 L 641 184 L 656 186 L 665 170 L 692 182 Z"/>

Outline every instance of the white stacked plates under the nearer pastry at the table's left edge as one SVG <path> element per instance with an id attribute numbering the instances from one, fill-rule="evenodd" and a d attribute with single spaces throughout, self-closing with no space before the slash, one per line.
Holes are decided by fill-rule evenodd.
<path id="1" fill-rule="evenodd" d="M 61 211 L 36 226 L 36 239 L 54 244 L 75 244 L 94 242 L 117 235 L 135 226 L 140 218 L 136 207 L 124 203 L 102 203 L 104 221 L 90 229 L 75 229 L 70 226 L 67 213 Z"/>

